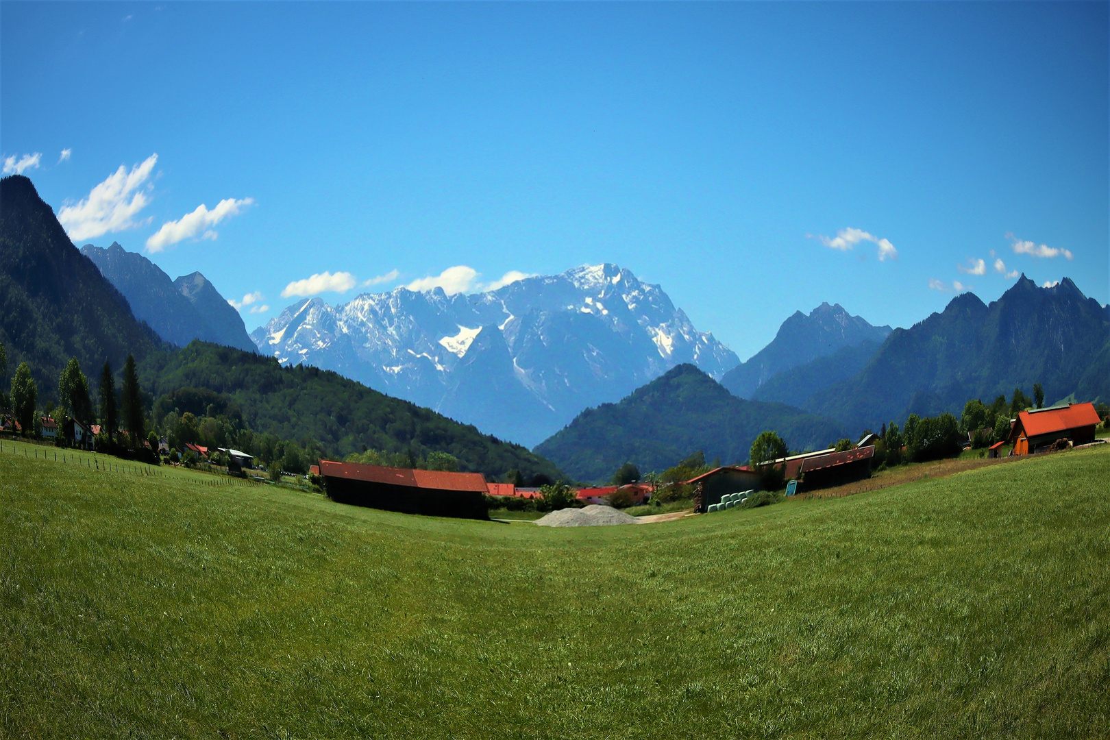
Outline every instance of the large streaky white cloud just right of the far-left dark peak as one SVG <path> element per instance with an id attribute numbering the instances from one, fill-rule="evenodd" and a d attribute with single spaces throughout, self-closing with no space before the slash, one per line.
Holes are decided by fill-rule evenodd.
<path id="1" fill-rule="evenodd" d="M 150 202 L 147 181 L 155 163 L 158 154 L 151 154 L 130 172 L 121 164 L 119 170 L 89 192 L 89 197 L 77 205 L 62 207 L 58 212 L 58 221 L 70 239 L 81 241 L 140 225 L 134 217 Z"/>

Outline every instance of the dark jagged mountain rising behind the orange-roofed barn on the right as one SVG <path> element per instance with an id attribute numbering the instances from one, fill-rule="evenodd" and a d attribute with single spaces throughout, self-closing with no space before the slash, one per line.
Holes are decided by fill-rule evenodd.
<path id="1" fill-rule="evenodd" d="M 1015 387 L 1030 394 L 1033 383 L 1051 402 L 1079 388 L 1108 337 L 1106 311 L 1069 278 L 1046 288 L 1022 275 L 989 306 L 965 293 L 942 313 L 895 330 L 860 373 L 805 408 L 858 428 L 911 413 L 958 413 L 968 398 Z M 1097 378 L 1088 387 L 1097 388 Z"/>

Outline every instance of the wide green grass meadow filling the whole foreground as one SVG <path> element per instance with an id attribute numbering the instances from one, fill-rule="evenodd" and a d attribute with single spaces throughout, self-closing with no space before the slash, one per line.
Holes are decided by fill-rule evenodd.
<path id="1" fill-rule="evenodd" d="M 0 455 L 11 738 L 1110 736 L 1110 454 L 657 525 Z"/>

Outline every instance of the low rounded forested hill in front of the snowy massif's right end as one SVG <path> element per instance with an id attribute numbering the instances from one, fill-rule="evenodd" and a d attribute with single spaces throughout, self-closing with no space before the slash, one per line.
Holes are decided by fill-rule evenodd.
<path id="1" fill-rule="evenodd" d="M 737 398 L 693 365 L 678 365 L 617 404 L 579 414 L 535 452 L 582 480 L 604 480 L 626 462 L 663 470 L 690 453 L 746 460 L 751 443 L 774 429 L 791 449 L 845 436 L 830 422 L 784 404 Z"/>

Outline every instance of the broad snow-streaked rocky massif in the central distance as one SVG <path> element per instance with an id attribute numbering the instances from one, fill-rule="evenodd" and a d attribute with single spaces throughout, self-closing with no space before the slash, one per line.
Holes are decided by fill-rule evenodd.
<path id="1" fill-rule="evenodd" d="M 442 288 L 307 298 L 251 334 L 305 363 L 532 446 L 589 406 L 680 363 L 719 378 L 739 359 L 658 285 L 603 264 L 475 295 Z"/>

